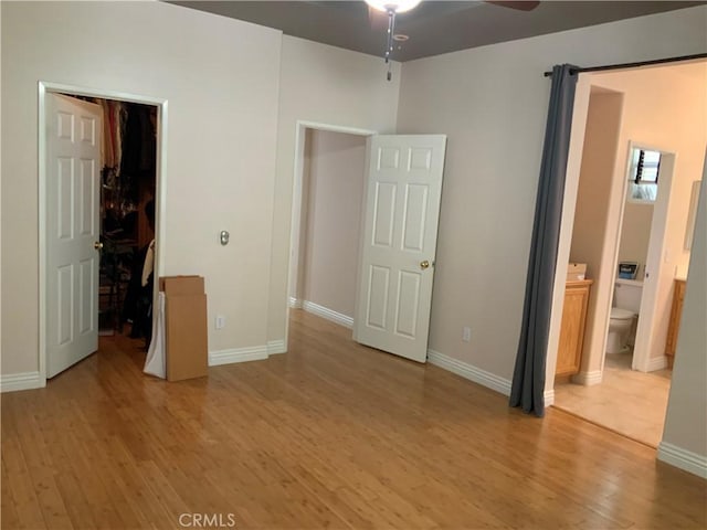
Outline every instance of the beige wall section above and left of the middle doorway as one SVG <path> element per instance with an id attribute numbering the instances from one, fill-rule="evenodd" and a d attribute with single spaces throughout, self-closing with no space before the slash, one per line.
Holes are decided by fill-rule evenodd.
<path id="1" fill-rule="evenodd" d="M 390 134 L 395 130 L 400 65 L 392 82 L 379 57 L 283 36 L 268 339 L 285 338 L 297 121 Z"/>

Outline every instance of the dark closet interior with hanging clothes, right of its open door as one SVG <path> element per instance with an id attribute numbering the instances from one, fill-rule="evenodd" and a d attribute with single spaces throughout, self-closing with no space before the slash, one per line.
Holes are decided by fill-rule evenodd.
<path id="1" fill-rule="evenodd" d="M 87 98 L 104 109 L 98 335 L 151 337 L 157 107 Z"/>

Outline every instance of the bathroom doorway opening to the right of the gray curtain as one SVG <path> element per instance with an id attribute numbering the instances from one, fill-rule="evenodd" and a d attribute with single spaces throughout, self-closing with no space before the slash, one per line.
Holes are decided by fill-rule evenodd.
<path id="1" fill-rule="evenodd" d="M 555 406 L 654 447 L 671 386 L 666 352 L 677 335 L 674 299 L 689 261 L 688 204 L 703 174 L 707 105 L 699 86 L 706 72 L 705 62 L 677 63 L 582 74 L 578 82 L 578 94 L 584 84 L 587 116 L 579 182 L 574 190 L 568 182 L 576 204 L 566 195 L 564 252 L 570 263 L 585 264 L 591 285 L 583 311 L 574 311 L 577 340 L 566 340 L 571 318 L 560 310 L 557 363 L 549 352 L 548 364 L 560 365 L 559 350 L 568 343 L 577 364 L 558 374 L 549 395 Z M 556 307 L 558 297 L 561 292 Z M 611 309 L 625 298 L 632 300 L 623 307 L 629 326 L 610 340 Z"/>

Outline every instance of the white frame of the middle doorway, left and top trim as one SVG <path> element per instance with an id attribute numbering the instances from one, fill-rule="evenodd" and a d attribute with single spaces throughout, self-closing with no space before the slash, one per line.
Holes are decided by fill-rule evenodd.
<path id="1" fill-rule="evenodd" d="M 291 205 L 291 224 L 289 224 L 289 255 L 287 259 L 287 293 L 285 297 L 285 348 L 289 343 L 289 308 L 298 307 L 296 303 L 291 301 L 289 293 L 293 287 L 297 286 L 297 276 L 299 272 L 300 252 L 299 237 L 302 231 L 302 205 L 303 197 L 303 183 L 305 172 L 305 147 L 307 138 L 307 129 L 321 130 L 327 132 L 342 132 L 346 135 L 355 135 L 362 137 L 370 137 L 378 135 L 379 131 L 372 129 L 362 129 L 358 127 L 349 127 L 346 125 L 323 124 L 318 121 L 308 121 L 298 119 L 295 124 L 295 160 L 294 160 L 294 173 L 292 184 L 292 205 Z M 368 149 L 367 155 L 368 158 Z M 363 195 L 366 201 L 366 195 Z M 356 322 L 355 322 L 356 325 Z"/>

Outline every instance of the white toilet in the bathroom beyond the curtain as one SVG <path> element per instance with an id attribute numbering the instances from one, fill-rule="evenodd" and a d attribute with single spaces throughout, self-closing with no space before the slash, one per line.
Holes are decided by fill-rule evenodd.
<path id="1" fill-rule="evenodd" d="M 641 308 L 643 282 L 616 279 L 614 285 L 614 307 L 611 308 L 606 353 L 623 353 L 633 343 L 634 322 Z"/>

